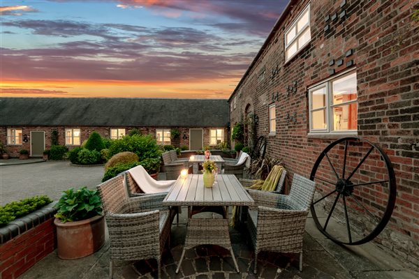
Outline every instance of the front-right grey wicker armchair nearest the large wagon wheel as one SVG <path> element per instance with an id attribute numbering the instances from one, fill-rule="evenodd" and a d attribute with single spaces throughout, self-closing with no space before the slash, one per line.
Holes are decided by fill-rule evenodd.
<path id="1" fill-rule="evenodd" d="M 256 206 L 249 207 L 247 228 L 255 248 L 255 269 L 261 250 L 300 253 L 302 236 L 316 183 L 294 174 L 290 195 L 249 190 Z"/>

